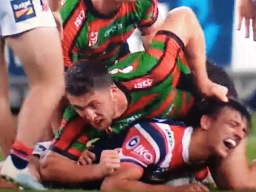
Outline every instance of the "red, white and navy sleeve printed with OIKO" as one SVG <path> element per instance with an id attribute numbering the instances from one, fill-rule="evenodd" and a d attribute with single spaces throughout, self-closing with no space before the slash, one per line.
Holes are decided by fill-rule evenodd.
<path id="1" fill-rule="evenodd" d="M 132 162 L 142 168 L 158 165 L 167 155 L 167 139 L 145 122 L 131 127 L 120 152 L 121 162 Z"/>

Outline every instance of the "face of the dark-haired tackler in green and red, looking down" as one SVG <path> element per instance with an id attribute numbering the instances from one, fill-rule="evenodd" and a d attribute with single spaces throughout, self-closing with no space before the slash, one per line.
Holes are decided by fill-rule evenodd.
<path id="1" fill-rule="evenodd" d="M 68 94 L 67 97 L 77 113 L 93 127 L 105 130 L 111 125 L 115 116 L 112 88 L 93 89 L 82 96 Z"/>

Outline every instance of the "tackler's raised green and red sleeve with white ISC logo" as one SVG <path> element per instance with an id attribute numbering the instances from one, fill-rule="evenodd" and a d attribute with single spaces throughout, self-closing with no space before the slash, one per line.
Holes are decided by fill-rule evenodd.
<path id="1" fill-rule="evenodd" d="M 176 87 L 180 72 L 189 73 L 183 42 L 169 31 L 158 31 L 144 52 L 129 54 L 114 66 L 109 73 L 115 82 L 132 90 L 145 90 L 168 78 L 170 86 Z"/>

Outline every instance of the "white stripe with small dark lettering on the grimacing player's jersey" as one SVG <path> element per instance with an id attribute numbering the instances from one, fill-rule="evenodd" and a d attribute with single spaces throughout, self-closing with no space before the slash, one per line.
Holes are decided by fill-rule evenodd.
<path id="1" fill-rule="evenodd" d="M 167 168 L 167 167 L 169 167 L 170 162 L 172 161 L 173 149 L 174 149 L 174 145 L 175 145 L 173 131 L 171 130 L 171 127 L 170 127 L 169 124 L 156 123 L 156 125 L 163 130 L 163 133 L 165 134 L 165 138 L 166 138 L 165 144 L 167 146 L 167 151 L 166 151 L 165 159 L 160 164 L 160 167 Z M 171 137 L 171 138 L 169 138 L 169 137 Z M 172 142 L 169 142 L 169 139 L 171 139 Z"/>

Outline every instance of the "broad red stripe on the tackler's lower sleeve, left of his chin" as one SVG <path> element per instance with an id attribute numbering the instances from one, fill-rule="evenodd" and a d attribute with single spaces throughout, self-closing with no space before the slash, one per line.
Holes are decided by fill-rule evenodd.
<path id="1" fill-rule="evenodd" d="M 69 148 L 72 141 L 81 133 L 84 126 L 84 120 L 82 118 L 76 118 L 75 120 L 70 121 L 66 127 L 63 128 L 61 136 L 54 143 L 54 147 L 59 148 L 62 151 L 65 151 Z"/>

